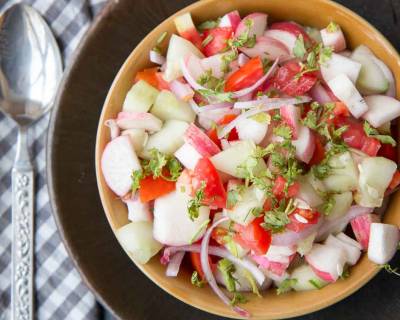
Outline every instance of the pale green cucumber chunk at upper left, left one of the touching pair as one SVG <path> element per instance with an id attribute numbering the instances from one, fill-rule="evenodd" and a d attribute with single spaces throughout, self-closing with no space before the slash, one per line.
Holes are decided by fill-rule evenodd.
<path id="1" fill-rule="evenodd" d="M 122 110 L 128 112 L 147 112 L 153 105 L 159 91 L 140 80 L 126 94 Z"/>

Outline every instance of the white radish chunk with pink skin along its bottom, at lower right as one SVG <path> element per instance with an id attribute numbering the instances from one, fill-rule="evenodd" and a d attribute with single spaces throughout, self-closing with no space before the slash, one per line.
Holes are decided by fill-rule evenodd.
<path id="1" fill-rule="evenodd" d="M 343 273 L 346 256 L 341 248 L 316 243 L 306 254 L 306 261 L 321 279 L 335 282 Z"/>

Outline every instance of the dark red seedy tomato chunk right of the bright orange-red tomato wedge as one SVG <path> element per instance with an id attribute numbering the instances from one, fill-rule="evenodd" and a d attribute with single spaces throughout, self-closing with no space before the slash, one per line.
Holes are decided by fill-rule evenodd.
<path id="1" fill-rule="evenodd" d="M 274 78 L 274 86 L 289 96 L 300 96 L 310 91 L 317 82 L 316 72 L 307 72 L 297 77 L 301 72 L 298 62 L 288 62 L 281 68 Z"/>

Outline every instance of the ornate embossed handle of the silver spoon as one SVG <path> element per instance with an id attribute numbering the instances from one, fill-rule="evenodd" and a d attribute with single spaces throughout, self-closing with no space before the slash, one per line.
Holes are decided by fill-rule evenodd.
<path id="1" fill-rule="evenodd" d="M 27 133 L 20 129 L 12 170 L 12 320 L 33 319 L 33 184 Z"/>

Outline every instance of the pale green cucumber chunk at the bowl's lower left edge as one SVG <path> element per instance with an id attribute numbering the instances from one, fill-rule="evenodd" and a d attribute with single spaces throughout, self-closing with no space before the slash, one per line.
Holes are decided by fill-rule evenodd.
<path id="1" fill-rule="evenodd" d="M 151 222 L 131 222 L 119 228 L 115 235 L 124 250 L 140 264 L 147 263 L 163 247 L 153 238 Z"/>

